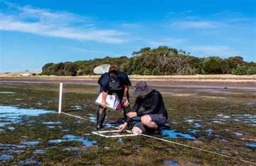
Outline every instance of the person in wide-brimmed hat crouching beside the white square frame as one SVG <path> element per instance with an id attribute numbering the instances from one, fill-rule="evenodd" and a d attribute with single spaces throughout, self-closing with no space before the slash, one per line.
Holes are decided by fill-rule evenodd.
<path id="1" fill-rule="evenodd" d="M 133 126 L 132 132 L 139 134 L 152 132 L 164 126 L 168 116 L 161 93 L 142 81 L 136 83 L 135 90 L 132 94 L 136 96 L 137 99 L 131 112 L 127 113 L 126 116 L 129 118 L 138 116 L 141 120 Z M 138 112 L 141 106 L 145 110 Z M 127 123 L 121 125 L 119 130 L 123 131 L 126 125 Z"/>

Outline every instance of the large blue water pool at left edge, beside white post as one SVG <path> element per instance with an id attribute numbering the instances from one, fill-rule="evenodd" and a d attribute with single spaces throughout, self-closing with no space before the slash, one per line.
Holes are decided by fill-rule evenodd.
<path id="1" fill-rule="evenodd" d="M 38 109 L 19 109 L 14 106 L 0 105 L 0 127 L 10 123 L 21 122 L 24 116 L 39 116 L 47 113 L 56 113 L 56 111 L 46 111 Z"/>

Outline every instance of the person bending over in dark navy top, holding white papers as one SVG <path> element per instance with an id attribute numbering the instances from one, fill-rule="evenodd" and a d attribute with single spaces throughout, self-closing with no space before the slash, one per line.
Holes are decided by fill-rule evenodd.
<path id="1" fill-rule="evenodd" d="M 111 66 L 109 73 L 100 76 L 98 84 L 100 85 L 100 93 L 102 92 L 103 97 L 102 104 L 97 112 L 96 129 L 103 128 L 106 116 L 106 97 L 113 93 L 116 93 L 120 100 L 122 99 L 124 118 L 127 124 L 129 124 L 130 118 L 126 117 L 126 114 L 131 110 L 129 104 L 129 86 L 131 86 L 131 82 L 128 75 L 122 71 L 117 71 L 116 66 Z"/>

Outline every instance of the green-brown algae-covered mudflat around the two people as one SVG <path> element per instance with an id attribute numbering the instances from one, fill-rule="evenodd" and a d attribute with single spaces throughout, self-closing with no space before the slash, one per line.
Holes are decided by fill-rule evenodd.
<path id="1" fill-rule="evenodd" d="M 0 104 L 57 110 L 58 89 L 58 84 L 0 84 L 0 92 L 15 92 L 0 93 Z M 164 94 L 165 105 L 169 112 L 167 123 L 171 129 L 177 129 L 177 132 L 190 134 L 196 138 L 195 140 L 169 138 L 170 140 L 244 160 L 256 161 L 255 148 L 246 146 L 252 142 L 250 140 L 256 139 L 253 121 L 247 123 L 246 116 L 245 120 L 239 119 L 239 116 L 244 114 L 255 116 L 256 105 L 246 104 L 256 103 L 255 90 L 219 90 L 231 93 L 217 93 L 216 91 L 213 93 L 197 88 L 179 88 L 179 90 L 177 88 L 161 88 L 159 90 Z M 93 135 L 91 132 L 95 128 L 93 115 L 96 115 L 97 110 L 97 106 L 94 104 L 97 92 L 97 86 L 64 84 L 63 111 L 85 119 L 91 118 L 91 121 L 56 113 L 24 117 L 22 123 L 1 127 L 4 131 L 0 132 L 0 155 L 13 155 L 14 158 L 0 162 L 15 164 L 33 157 L 36 161 L 44 164 L 158 165 L 166 160 L 178 162 L 180 165 L 187 163 L 244 164 L 240 161 L 205 154 L 194 149 L 141 136 L 122 138 L 123 141 L 118 141 L 118 138 L 106 139 Z M 193 95 L 187 96 L 187 93 Z M 131 97 L 131 103 L 133 102 L 134 97 Z M 72 106 L 80 106 L 81 109 L 76 110 Z M 223 116 L 219 116 L 220 114 Z M 230 118 L 224 118 L 225 116 Z M 110 122 L 118 117 L 123 117 L 121 111 L 109 110 L 105 122 Z M 8 127 L 15 129 L 10 130 Z M 197 129 L 197 132 L 190 133 L 190 129 Z M 234 132 L 242 133 L 242 135 L 235 135 Z M 83 137 L 90 141 L 96 141 L 96 143 L 86 147 L 79 141 L 49 142 L 49 140 L 62 139 L 65 135 Z M 155 136 L 161 137 L 161 135 Z M 21 153 L 5 151 L 8 146 L 3 145 L 21 146 L 22 141 L 41 143 L 23 148 L 12 147 L 16 150 L 24 150 Z M 44 153 L 33 153 L 37 149 L 43 149 Z"/>

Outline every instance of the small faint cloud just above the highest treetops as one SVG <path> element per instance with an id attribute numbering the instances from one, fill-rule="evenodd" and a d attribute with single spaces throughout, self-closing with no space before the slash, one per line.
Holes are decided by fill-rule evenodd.
<path id="1" fill-rule="evenodd" d="M 185 39 L 174 39 L 174 38 L 165 38 L 163 40 L 158 40 L 158 41 L 150 41 L 149 44 L 152 47 L 158 47 L 158 46 L 177 46 L 180 44 L 184 44 L 187 42 Z"/>

